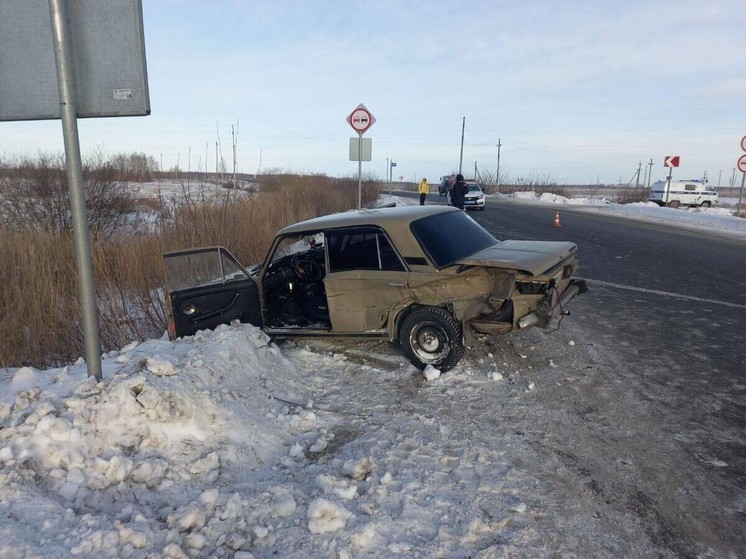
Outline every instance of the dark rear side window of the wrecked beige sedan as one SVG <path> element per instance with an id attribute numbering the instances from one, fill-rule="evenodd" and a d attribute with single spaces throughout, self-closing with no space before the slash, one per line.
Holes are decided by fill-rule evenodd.
<path id="1" fill-rule="evenodd" d="M 393 270 L 404 265 L 383 231 L 375 228 L 345 229 L 326 234 L 329 271 Z"/>

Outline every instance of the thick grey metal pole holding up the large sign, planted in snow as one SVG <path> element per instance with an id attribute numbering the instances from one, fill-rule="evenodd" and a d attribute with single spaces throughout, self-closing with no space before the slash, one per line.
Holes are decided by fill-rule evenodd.
<path id="1" fill-rule="evenodd" d="M 70 36 L 63 4 L 64 0 L 49 0 L 49 13 L 52 19 L 52 42 L 54 44 L 54 57 L 57 62 L 57 83 L 60 90 L 62 134 L 65 140 L 67 183 L 73 220 L 75 261 L 78 272 L 78 292 L 83 322 L 86 364 L 88 376 L 101 380 L 101 343 L 98 337 L 98 311 L 93 286 L 88 218 L 85 213 L 83 164 L 80 158 L 77 99 L 75 98 L 75 75 L 73 74 Z"/>

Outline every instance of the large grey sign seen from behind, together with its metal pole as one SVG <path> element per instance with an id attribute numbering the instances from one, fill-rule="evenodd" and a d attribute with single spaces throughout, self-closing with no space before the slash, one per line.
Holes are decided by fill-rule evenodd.
<path id="1" fill-rule="evenodd" d="M 77 119 L 150 114 L 142 0 L 0 0 L 0 121 L 61 119 L 88 376 L 101 343 Z"/>

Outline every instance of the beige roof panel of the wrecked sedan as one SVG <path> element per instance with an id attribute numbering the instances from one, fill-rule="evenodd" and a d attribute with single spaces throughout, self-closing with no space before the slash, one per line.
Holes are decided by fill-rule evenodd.
<path id="1" fill-rule="evenodd" d="M 429 215 L 437 215 L 447 212 L 459 212 L 458 208 L 451 206 L 395 206 L 389 208 L 374 208 L 363 210 L 350 210 L 347 212 L 315 217 L 293 225 L 288 225 L 278 232 L 278 235 L 302 233 L 305 231 L 321 229 L 339 229 L 344 227 L 359 227 L 372 225 L 382 227 L 389 233 L 406 228 L 413 221 Z"/>

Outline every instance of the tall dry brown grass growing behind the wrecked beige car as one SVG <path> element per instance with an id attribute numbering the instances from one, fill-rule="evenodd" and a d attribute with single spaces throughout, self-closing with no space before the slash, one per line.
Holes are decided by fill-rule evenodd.
<path id="1" fill-rule="evenodd" d="M 161 200 L 154 226 L 132 220 L 115 237 L 93 239 L 102 351 L 165 331 L 163 252 L 217 244 L 249 265 L 263 258 L 281 227 L 357 207 L 356 180 L 260 180 L 250 198 L 208 198 L 197 188 Z M 377 185 L 367 181 L 363 203 L 377 197 Z M 84 355 L 73 246 L 69 232 L 0 222 L 0 367 L 60 366 Z"/>

